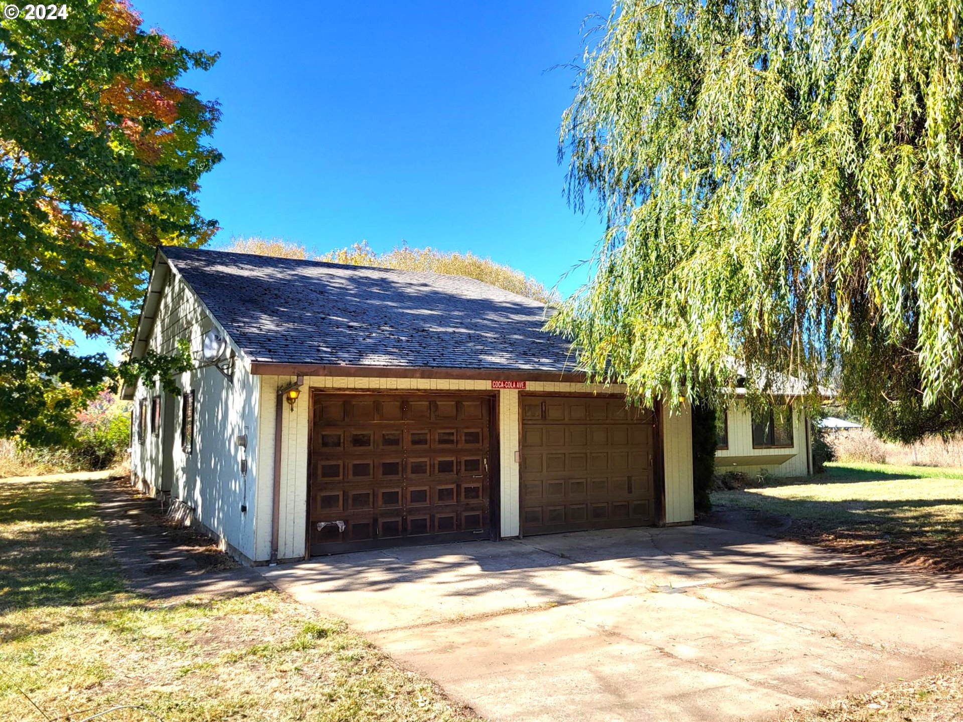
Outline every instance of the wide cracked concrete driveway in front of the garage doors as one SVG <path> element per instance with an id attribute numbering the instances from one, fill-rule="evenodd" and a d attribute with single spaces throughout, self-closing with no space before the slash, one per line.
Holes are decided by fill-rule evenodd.
<path id="1" fill-rule="evenodd" d="M 705 527 L 263 570 L 490 720 L 760 719 L 963 658 L 963 580 Z"/>

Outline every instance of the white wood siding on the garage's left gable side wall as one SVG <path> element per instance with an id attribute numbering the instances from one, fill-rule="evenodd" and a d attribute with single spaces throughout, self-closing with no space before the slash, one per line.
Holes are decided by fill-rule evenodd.
<path id="1" fill-rule="evenodd" d="M 137 477 L 159 489 L 164 477 L 163 448 L 169 447 L 172 462 L 169 492 L 174 499 L 189 506 L 196 520 L 218 536 L 221 546 L 232 547 L 249 559 L 254 558 L 254 527 L 259 513 L 255 490 L 258 479 L 258 403 L 260 377 L 247 372 L 245 359 L 237 350 L 233 378 L 228 380 L 215 368 L 201 363 L 201 344 L 213 321 L 194 292 L 174 272 L 168 276 L 147 348 L 161 353 L 176 349 L 178 339 L 187 339 L 195 368 L 176 377 L 182 390 L 195 391 L 194 449 L 188 454 L 180 443 L 182 396 L 163 394 L 156 384 L 139 383 L 134 392 L 135 408 L 145 401 L 150 414 L 150 400 L 160 396 L 162 403 L 161 432 L 153 436 L 150 425 L 143 445 L 134 439 L 131 470 Z M 165 438 L 163 420 L 173 415 L 169 438 Z M 136 427 L 136 425 L 135 425 Z M 237 437 L 247 434 L 247 450 L 237 444 Z M 247 476 L 241 473 L 241 461 L 247 457 Z M 247 512 L 242 506 L 247 505 Z"/>

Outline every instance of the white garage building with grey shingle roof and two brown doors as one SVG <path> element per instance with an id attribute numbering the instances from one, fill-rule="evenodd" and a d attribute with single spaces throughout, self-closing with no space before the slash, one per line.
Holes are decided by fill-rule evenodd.
<path id="1" fill-rule="evenodd" d="M 690 524 L 688 407 L 586 385 L 545 313 L 470 278 L 161 247 L 131 354 L 187 339 L 195 366 L 178 395 L 124 389 L 134 482 L 253 564 Z"/>

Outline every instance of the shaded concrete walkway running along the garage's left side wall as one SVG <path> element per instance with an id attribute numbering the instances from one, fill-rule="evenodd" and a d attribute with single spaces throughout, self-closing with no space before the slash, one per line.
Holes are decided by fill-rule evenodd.
<path id="1" fill-rule="evenodd" d="M 137 493 L 126 480 L 109 475 L 77 478 L 88 482 L 133 591 L 176 603 L 194 595 L 235 596 L 273 588 L 254 569 L 212 550 L 207 537 L 165 525 L 160 502 Z"/>

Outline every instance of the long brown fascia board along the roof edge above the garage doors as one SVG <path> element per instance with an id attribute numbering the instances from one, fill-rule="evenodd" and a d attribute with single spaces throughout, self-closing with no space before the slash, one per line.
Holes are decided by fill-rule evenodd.
<path id="1" fill-rule="evenodd" d="M 364 378 L 457 378 L 506 381 L 567 381 L 585 383 L 582 372 L 506 369 L 442 369 L 400 366 L 341 366 L 336 364 L 285 364 L 251 361 L 250 373 L 273 376 L 348 376 Z"/>

